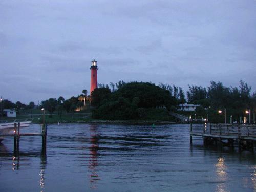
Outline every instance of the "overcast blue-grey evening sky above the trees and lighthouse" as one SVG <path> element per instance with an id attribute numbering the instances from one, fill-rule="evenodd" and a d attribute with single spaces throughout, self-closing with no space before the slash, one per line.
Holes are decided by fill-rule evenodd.
<path id="1" fill-rule="evenodd" d="M 256 90 L 256 1 L 0 1 L 0 96 L 65 99 L 98 82 Z"/>

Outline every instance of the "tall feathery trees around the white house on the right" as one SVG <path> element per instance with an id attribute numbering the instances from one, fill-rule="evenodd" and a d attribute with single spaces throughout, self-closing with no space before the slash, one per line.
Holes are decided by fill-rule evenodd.
<path id="1" fill-rule="evenodd" d="M 187 91 L 188 102 L 201 104 L 195 112 L 189 112 L 189 115 L 210 119 L 210 122 L 223 122 L 223 114 L 218 114 L 218 110 L 226 109 L 227 122 L 232 115 L 232 120 L 240 121 L 240 118 L 246 116 L 245 110 L 250 109 L 251 114 L 255 113 L 256 93 L 250 95 L 251 88 L 243 80 L 240 80 L 239 88 L 225 87 L 221 82 L 210 82 L 210 86 L 203 88 L 201 86 L 189 86 Z M 187 112 L 186 112 L 187 113 Z"/>

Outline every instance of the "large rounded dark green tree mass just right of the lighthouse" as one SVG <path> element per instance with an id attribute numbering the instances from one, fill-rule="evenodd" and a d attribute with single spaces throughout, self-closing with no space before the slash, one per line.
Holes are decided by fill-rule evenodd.
<path id="1" fill-rule="evenodd" d="M 92 92 L 92 105 L 96 107 L 93 118 L 143 119 L 150 112 L 149 109 L 159 107 L 169 109 L 177 104 L 177 100 L 170 95 L 169 91 L 150 82 L 120 81 L 117 87 L 118 89 L 112 93 L 104 87 Z"/>

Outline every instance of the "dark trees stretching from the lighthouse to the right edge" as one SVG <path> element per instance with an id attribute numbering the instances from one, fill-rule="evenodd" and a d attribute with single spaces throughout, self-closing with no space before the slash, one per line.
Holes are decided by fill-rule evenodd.
<path id="1" fill-rule="evenodd" d="M 157 89 L 147 90 L 145 86 L 158 87 Z M 141 117 L 133 111 L 145 111 L 146 108 L 154 108 L 164 106 L 168 110 L 176 111 L 178 104 L 185 102 L 191 104 L 199 104 L 195 112 L 184 112 L 186 115 L 196 115 L 198 118 L 210 118 L 212 121 L 221 122 L 222 116 L 217 113 L 218 110 L 227 111 L 227 117 L 232 115 L 233 120 L 239 121 L 245 115 L 246 109 L 251 109 L 251 112 L 256 110 L 256 92 L 251 92 L 251 87 L 243 80 L 239 81 L 238 87 L 226 87 L 222 82 L 210 81 L 208 87 L 188 84 L 188 90 L 185 92 L 181 87 L 175 85 L 159 83 L 157 86 L 154 83 L 139 83 L 139 82 L 111 82 L 108 84 L 99 83 L 99 88 L 92 93 L 92 105 L 96 107 L 94 110 L 94 118 L 136 118 Z M 168 96 L 165 98 L 170 102 L 161 100 L 158 93 L 162 94 L 161 90 L 165 90 Z M 144 94 L 141 94 L 143 93 Z M 152 95 L 148 92 L 153 93 Z M 133 93 L 133 94 L 132 94 Z M 163 94 L 165 95 L 165 94 Z M 135 104 L 137 100 L 137 104 Z M 160 104 L 161 103 L 161 104 Z M 168 103 L 168 104 L 167 104 Z M 119 108 L 126 108 L 125 113 Z M 137 109 L 135 106 L 137 106 Z M 143 108 L 143 109 L 142 109 Z M 114 111 L 113 111 L 114 110 Z M 116 115 L 110 115 L 116 113 Z M 182 112 L 181 112 L 182 113 Z M 122 115 L 121 115 L 122 114 Z M 130 114 L 130 115 L 129 115 Z M 120 117 L 122 116 L 122 117 Z"/>

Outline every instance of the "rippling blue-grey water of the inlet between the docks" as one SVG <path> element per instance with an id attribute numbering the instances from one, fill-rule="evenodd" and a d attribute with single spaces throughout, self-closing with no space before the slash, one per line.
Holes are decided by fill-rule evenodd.
<path id="1" fill-rule="evenodd" d="M 38 130 L 33 124 L 29 129 Z M 49 125 L 0 144 L 0 191 L 256 191 L 256 155 L 189 144 L 189 125 Z"/>

